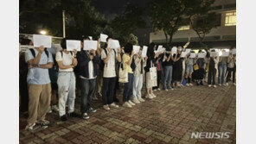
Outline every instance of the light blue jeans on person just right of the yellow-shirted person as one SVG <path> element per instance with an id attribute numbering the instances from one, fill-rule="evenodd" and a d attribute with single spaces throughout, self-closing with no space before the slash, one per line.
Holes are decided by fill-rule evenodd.
<path id="1" fill-rule="evenodd" d="M 133 90 L 132 95 L 133 98 L 141 98 L 141 89 L 143 86 L 143 74 L 140 74 L 139 77 L 133 78 Z"/>

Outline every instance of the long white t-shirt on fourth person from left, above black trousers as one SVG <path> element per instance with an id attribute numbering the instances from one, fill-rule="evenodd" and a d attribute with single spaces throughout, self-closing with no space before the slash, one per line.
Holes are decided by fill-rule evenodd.
<path id="1" fill-rule="evenodd" d="M 113 77 L 117 76 L 116 67 L 115 67 L 117 56 L 118 56 L 118 53 L 116 53 L 116 55 L 115 55 L 114 50 L 112 50 L 112 53 L 107 61 L 107 64 L 105 64 L 105 66 L 104 66 L 104 72 L 103 72 L 104 78 L 113 78 Z M 101 59 L 105 59 L 105 58 L 106 58 L 105 50 L 102 50 L 101 51 Z"/>

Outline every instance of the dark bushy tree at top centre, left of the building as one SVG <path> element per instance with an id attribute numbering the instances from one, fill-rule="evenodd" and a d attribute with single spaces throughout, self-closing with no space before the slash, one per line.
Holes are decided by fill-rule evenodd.
<path id="1" fill-rule="evenodd" d="M 131 38 L 135 38 L 135 35 L 132 34 L 132 32 L 137 28 L 145 27 L 145 22 L 142 16 L 142 8 L 138 7 L 136 4 L 127 3 L 123 13 L 119 16 L 115 16 L 112 22 L 110 22 L 110 27 L 113 30 L 113 37 L 118 39 L 121 45 L 131 41 Z"/>

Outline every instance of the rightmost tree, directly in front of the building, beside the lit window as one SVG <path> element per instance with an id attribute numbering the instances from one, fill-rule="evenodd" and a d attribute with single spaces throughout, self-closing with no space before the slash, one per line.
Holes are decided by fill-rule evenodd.
<path id="1" fill-rule="evenodd" d="M 194 0 L 193 2 L 188 0 L 185 3 L 190 26 L 198 35 L 201 46 L 206 50 L 208 46 L 203 43 L 203 40 L 206 34 L 209 34 L 212 28 L 216 28 L 219 22 L 216 13 L 210 12 L 213 3 L 214 0 Z"/>

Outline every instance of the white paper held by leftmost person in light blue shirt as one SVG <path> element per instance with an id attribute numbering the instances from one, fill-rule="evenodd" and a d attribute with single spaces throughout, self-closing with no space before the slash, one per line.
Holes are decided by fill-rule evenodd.
<path id="1" fill-rule="evenodd" d="M 48 35 L 33 34 L 34 47 L 52 47 L 52 37 Z"/>

